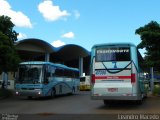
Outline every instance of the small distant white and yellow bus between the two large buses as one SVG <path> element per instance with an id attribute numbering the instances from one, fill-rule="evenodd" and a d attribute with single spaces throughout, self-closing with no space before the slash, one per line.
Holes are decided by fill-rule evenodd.
<path id="1" fill-rule="evenodd" d="M 80 77 L 80 90 L 85 91 L 85 90 L 90 90 L 91 88 L 91 80 L 90 76 L 82 76 Z"/>

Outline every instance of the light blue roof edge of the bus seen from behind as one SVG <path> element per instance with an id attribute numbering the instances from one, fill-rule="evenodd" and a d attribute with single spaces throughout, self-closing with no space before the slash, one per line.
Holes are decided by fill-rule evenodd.
<path id="1" fill-rule="evenodd" d="M 96 44 L 92 48 L 96 47 L 103 47 L 103 46 L 134 46 L 136 47 L 133 43 L 103 43 L 103 44 Z"/>

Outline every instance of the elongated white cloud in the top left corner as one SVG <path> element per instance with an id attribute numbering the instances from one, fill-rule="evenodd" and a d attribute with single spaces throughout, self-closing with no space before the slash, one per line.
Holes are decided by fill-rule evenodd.
<path id="1" fill-rule="evenodd" d="M 0 15 L 9 16 L 17 27 L 32 28 L 30 19 L 22 12 L 12 10 L 10 4 L 5 0 L 0 0 Z"/>

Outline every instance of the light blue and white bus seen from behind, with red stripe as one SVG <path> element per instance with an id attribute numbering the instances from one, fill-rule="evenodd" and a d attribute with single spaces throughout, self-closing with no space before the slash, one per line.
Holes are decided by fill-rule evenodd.
<path id="1" fill-rule="evenodd" d="M 91 98 L 142 102 L 147 95 L 141 57 L 131 43 L 94 45 L 91 51 Z"/>

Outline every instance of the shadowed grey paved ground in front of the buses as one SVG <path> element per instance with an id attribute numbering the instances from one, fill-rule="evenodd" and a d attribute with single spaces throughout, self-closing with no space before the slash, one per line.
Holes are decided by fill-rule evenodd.
<path id="1" fill-rule="evenodd" d="M 32 99 L 16 98 L 0 100 L 0 113 L 5 114 L 18 114 L 22 117 L 26 115 L 34 117 L 65 115 L 85 116 L 90 118 L 101 117 L 106 118 L 105 115 L 111 115 L 118 119 L 118 115 L 123 114 L 156 114 L 160 117 L 160 97 L 149 96 L 143 101 L 142 105 L 136 105 L 132 102 L 116 102 L 110 106 L 105 106 L 100 100 L 91 100 L 90 92 L 80 92 L 76 95 L 59 96 L 54 99 Z M 112 116 L 114 114 L 114 116 Z M 46 117 L 45 117 L 46 118 Z M 72 118 L 72 117 L 71 117 Z M 35 118 L 36 119 L 36 118 Z M 37 118 L 39 119 L 39 118 Z M 57 118 L 60 119 L 60 118 Z"/>

